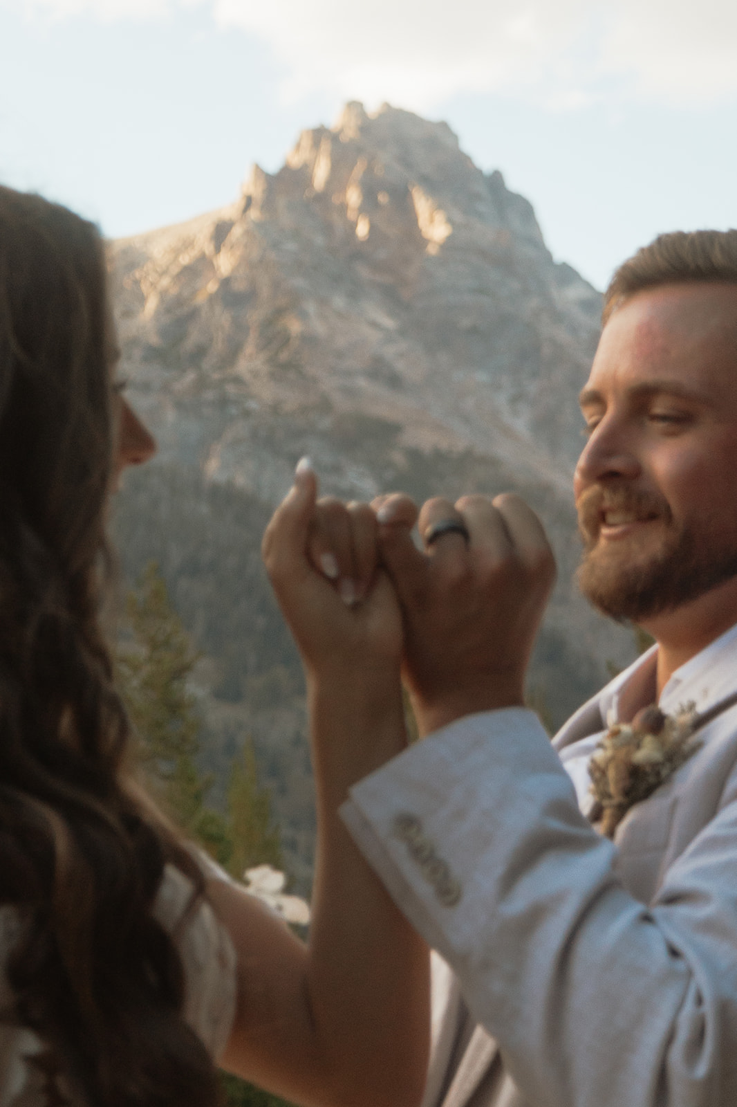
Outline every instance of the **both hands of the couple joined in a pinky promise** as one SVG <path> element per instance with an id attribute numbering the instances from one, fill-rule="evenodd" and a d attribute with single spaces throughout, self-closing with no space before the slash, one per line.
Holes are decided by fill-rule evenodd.
<path id="1" fill-rule="evenodd" d="M 401 663 L 423 734 L 522 703 L 554 560 L 518 496 L 435 498 L 419 511 L 401 494 L 343 505 L 318 500 L 314 474 L 298 467 L 263 557 L 308 671 Z"/>

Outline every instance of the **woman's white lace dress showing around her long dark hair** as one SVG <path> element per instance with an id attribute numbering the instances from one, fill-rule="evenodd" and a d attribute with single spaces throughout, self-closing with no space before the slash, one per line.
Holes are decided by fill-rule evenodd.
<path id="1" fill-rule="evenodd" d="M 191 883 L 178 869 L 167 865 L 155 914 L 175 935 L 181 955 L 186 976 L 185 1018 L 217 1058 L 228 1042 L 236 1008 L 236 952 L 206 901 L 200 901 L 185 925 L 177 929 L 190 894 Z M 13 908 L 0 908 L 0 1011 L 8 1010 L 12 1002 L 4 961 L 17 933 Z M 0 1021 L 0 1107 L 49 1107 L 44 1077 L 35 1065 L 29 1064 L 42 1051 L 43 1045 L 32 1031 Z"/>

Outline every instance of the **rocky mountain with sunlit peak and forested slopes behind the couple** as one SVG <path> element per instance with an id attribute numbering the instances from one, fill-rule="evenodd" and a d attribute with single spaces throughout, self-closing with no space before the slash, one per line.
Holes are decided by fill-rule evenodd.
<path id="1" fill-rule="evenodd" d="M 111 244 L 111 270 L 122 372 L 159 442 L 121 496 L 124 566 L 160 562 L 208 659 L 209 763 L 221 774 L 253 734 L 298 876 L 301 685 L 258 546 L 302 454 L 343 497 L 530 499 L 560 562 L 531 677 L 554 722 L 629 656 L 571 586 L 575 397 L 600 294 L 446 124 L 349 104 L 274 176 L 255 167 L 230 207 Z"/>

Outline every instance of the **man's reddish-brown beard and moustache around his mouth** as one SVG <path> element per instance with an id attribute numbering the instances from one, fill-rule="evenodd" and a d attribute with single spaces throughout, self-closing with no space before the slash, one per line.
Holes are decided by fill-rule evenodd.
<path id="1" fill-rule="evenodd" d="M 663 531 L 660 548 L 637 557 L 633 540 L 599 540 L 602 509 L 655 518 Z M 737 538 L 677 526 L 667 501 L 656 493 L 624 485 L 583 493 L 578 503 L 584 552 L 579 587 L 604 614 L 643 622 L 697 599 L 737 575 Z M 647 524 L 645 524 L 647 526 Z"/>

